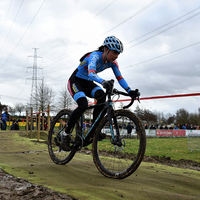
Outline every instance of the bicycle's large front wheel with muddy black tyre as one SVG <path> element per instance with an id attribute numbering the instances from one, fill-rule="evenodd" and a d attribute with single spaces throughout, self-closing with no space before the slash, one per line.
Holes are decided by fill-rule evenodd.
<path id="1" fill-rule="evenodd" d="M 123 179 L 130 176 L 142 162 L 146 135 L 140 119 L 134 113 L 117 110 L 114 117 L 114 135 L 111 134 L 108 117 L 101 120 L 93 139 L 93 159 L 104 176 Z"/>

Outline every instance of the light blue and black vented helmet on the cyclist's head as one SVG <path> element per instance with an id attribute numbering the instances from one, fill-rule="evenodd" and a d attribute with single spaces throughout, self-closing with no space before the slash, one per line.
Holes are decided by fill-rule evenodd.
<path id="1" fill-rule="evenodd" d="M 105 40 L 103 45 L 107 46 L 110 50 L 115 50 L 118 53 L 123 52 L 123 44 L 122 42 L 116 38 L 115 36 L 108 36 Z"/>

